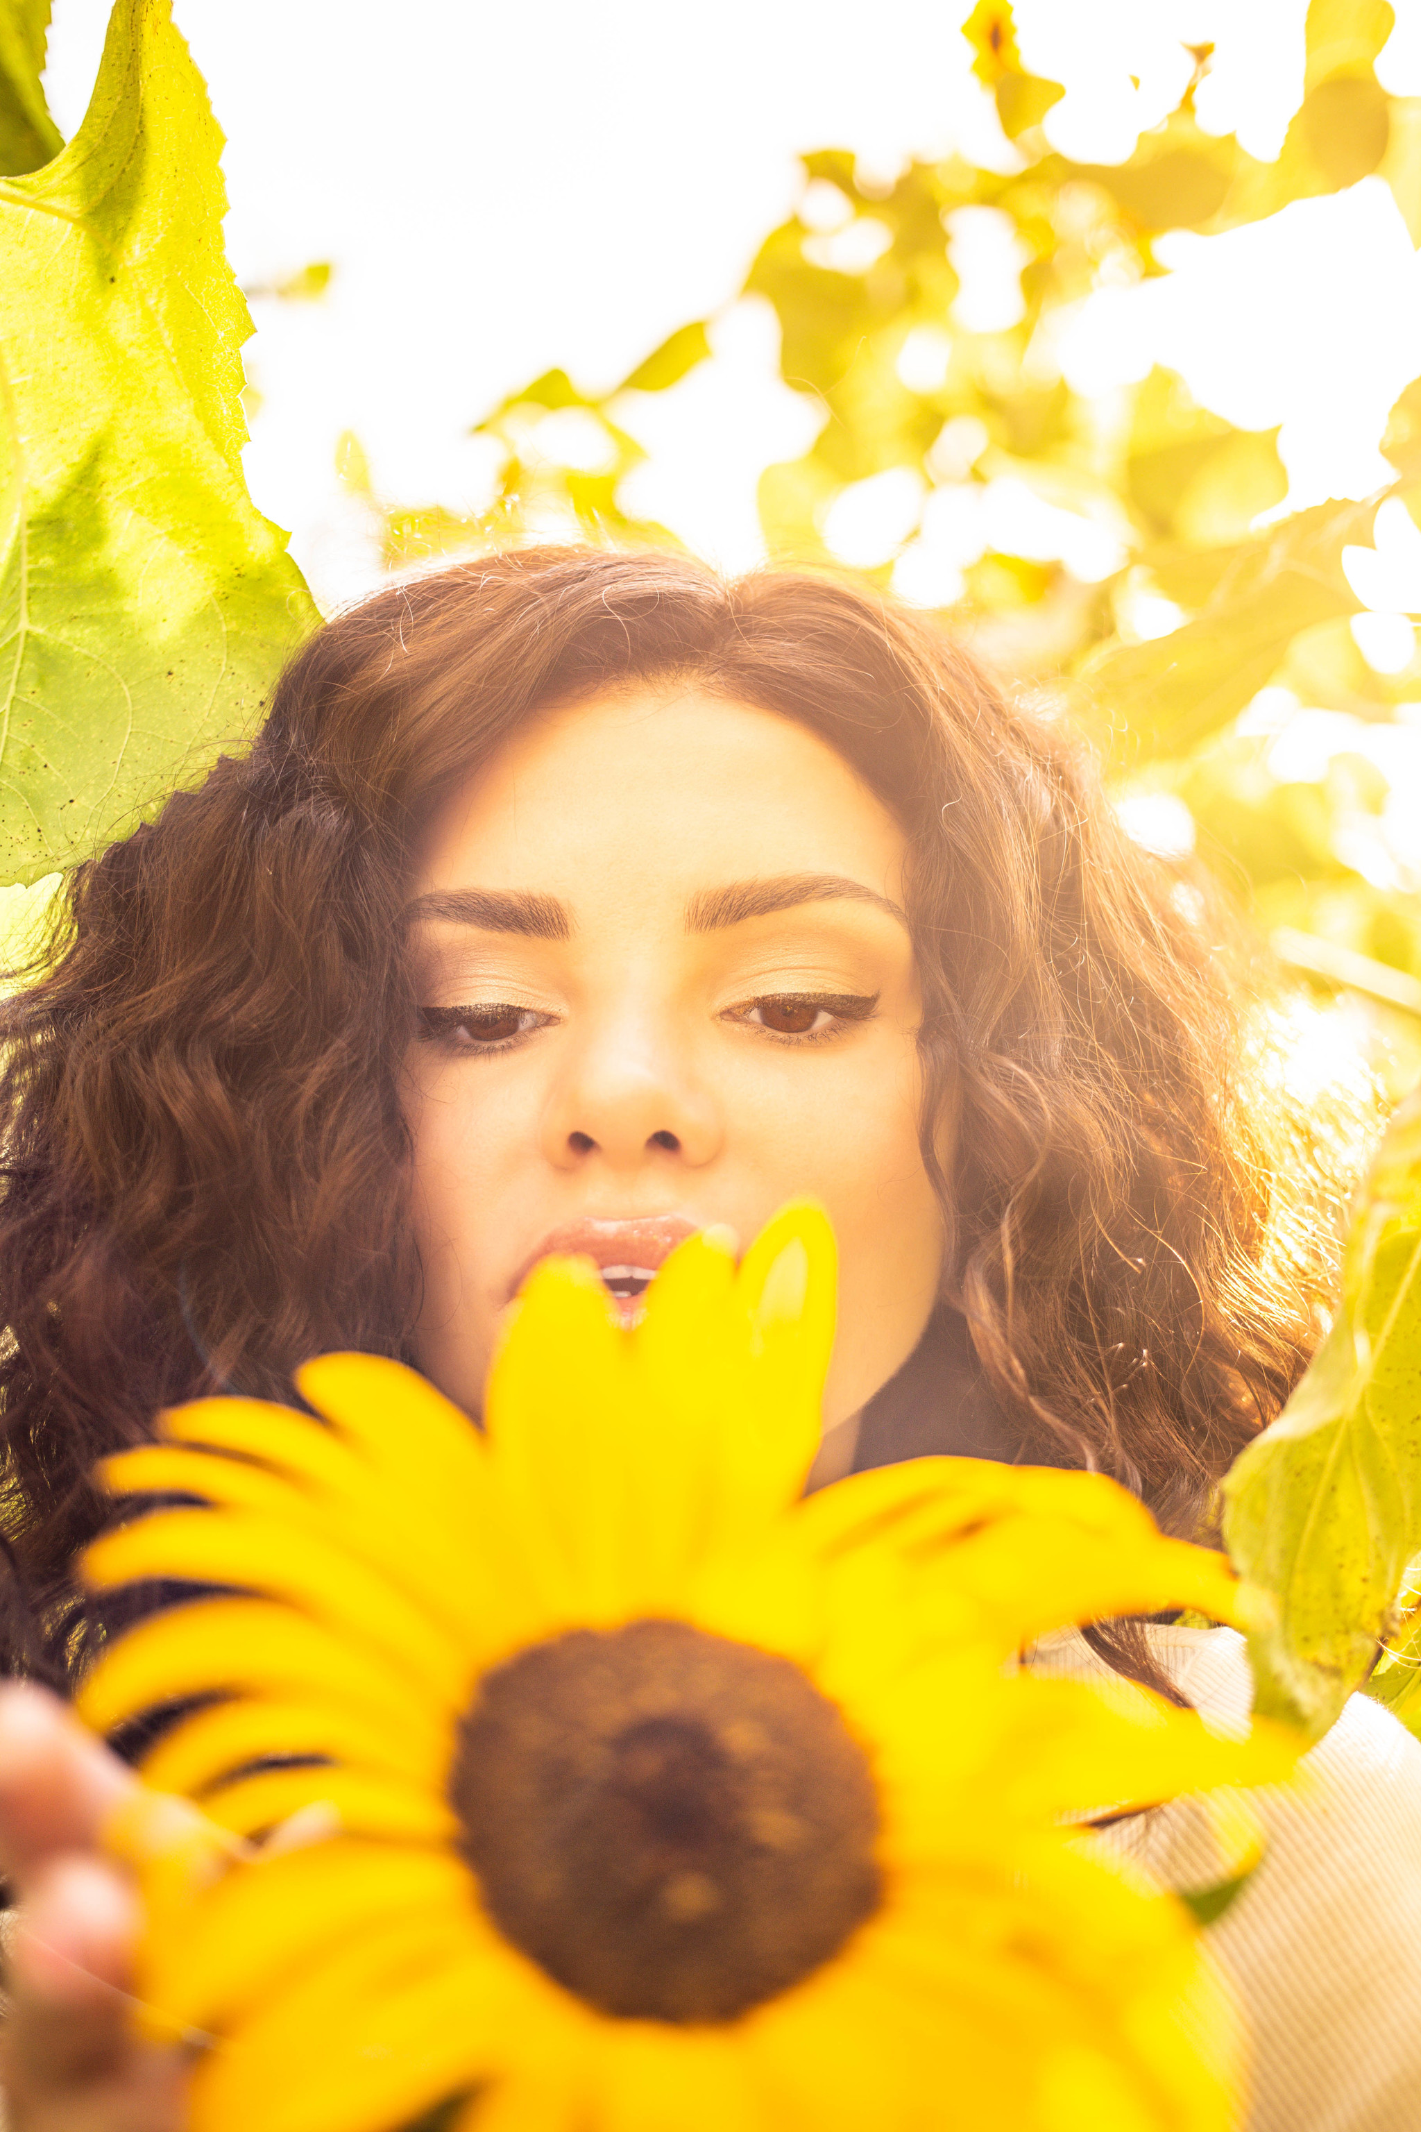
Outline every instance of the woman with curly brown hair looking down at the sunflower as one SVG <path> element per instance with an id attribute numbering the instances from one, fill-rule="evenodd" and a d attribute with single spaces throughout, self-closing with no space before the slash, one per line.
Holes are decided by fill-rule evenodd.
<path id="1" fill-rule="evenodd" d="M 104 1627 L 68 1586 L 102 1452 L 213 1386 L 290 1396 L 328 1347 L 407 1356 L 477 1414 L 550 1249 L 635 1309 L 688 1228 L 816 1194 L 842 1245 L 820 1480 L 1095 1465 L 1206 1533 L 1306 1364 L 1334 1207 L 1283 1200 L 1204 887 L 927 623 L 844 584 L 524 550 L 383 593 L 294 661 L 249 757 L 79 872 L 66 925 L 0 1081 L 13 1644 L 55 1686 Z M 1236 1697 L 1234 1644 L 1161 1635 L 1093 1631 L 1176 1695 L 1223 1650 L 1195 1699 Z M 1381 1787 L 1421 1844 L 1421 1750 L 1376 1721 L 1329 1782 L 1342 1808 Z M 87 1855 L 121 1782 L 11 1691 L 19 2132 L 181 2123 L 173 2066 L 79 1974 L 124 1976 L 128 1897 Z M 1189 1874 L 1187 1829 L 1146 1821 Z M 1398 1906 L 1395 1870 L 1357 1870 L 1366 1959 L 1410 1883 Z M 1244 1902 L 1257 1998 L 1291 1912 Z M 1257 2126 L 1398 2126 L 1406 2042 L 1353 2115 L 1336 2081 L 1334 2115 L 1297 2113 L 1295 2036 L 1340 2049 L 1336 1976 L 1308 1991 L 1276 2077 L 1261 2042 Z"/>

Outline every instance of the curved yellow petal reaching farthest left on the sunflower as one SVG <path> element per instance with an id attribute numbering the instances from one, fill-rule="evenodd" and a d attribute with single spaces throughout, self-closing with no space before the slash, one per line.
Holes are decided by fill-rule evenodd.
<path id="1" fill-rule="evenodd" d="M 432 1772 L 447 1763 L 450 1718 L 418 1689 L 328 1629 L 266 1599 L 198 1599 L 141 1622 L 109 1644 L 77 1708 L 102 1733 L 183 1695 L 243 1689 L 347 1706 L 403 1729 L 422 1767 Z"/>

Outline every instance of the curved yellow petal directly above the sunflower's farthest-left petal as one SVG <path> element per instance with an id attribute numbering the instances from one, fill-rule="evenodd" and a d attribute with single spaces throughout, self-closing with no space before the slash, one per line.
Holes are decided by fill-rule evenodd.
<path id="1" fill-rule="evenodd" d="M 383 1652 L 450 1708 L 467 1699 L 469 1657 L 439 1620 L 343 1546 L 245 1509 L 160 1509 L 104 1533 L 81 1556 L 96 1590 L 145 1578 L 230 1584 L 281 1599 L 356 1646 Z"/>

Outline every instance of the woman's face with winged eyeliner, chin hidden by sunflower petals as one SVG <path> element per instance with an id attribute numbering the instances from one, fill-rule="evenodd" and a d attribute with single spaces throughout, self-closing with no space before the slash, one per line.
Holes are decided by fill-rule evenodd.
<path id="1" fill-rule="evenodd" d="M 805 727 L 695 687 L 535 718 L 415 878 L 420 1362 L 479 1409 L 499 1313 L 586 1251 L 626 1315 L 692 1228 L 812 1194 L 839 1237 L 824 1424 L 912 1354 L 942 1215 L 918 1147 L 905 840 Z"/>

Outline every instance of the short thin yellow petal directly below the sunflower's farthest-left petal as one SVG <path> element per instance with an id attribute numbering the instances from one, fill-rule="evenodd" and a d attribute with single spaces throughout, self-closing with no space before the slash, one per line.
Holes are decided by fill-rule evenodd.
<path id="1" fill-rule="evenodd" d="M 179 1718 L 147 1750 L 138 1767 L 153 1791 L 200 1797 L 234 1770 L 279 1755 L 322 1755 L 386 1776 L 428 1780 L 428 1759 L 409 1753 L 403 1735 L 349 1706 L 313 1697 L 241 1697 L 209 1703 Z"/>

